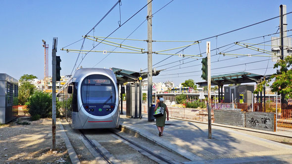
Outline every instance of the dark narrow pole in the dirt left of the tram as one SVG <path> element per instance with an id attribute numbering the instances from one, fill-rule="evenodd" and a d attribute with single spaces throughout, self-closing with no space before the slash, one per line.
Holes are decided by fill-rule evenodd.
<path id="1" fill-rule="evenodd" d="M 58 38 L 53 37 L 52 47 L 52 150 L 56 149 L 56 52 Z"/>

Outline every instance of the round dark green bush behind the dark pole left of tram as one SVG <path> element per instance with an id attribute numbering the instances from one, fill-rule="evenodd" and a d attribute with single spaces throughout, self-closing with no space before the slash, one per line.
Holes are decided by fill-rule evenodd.
<path id="1" fill-rule="evenodd" d="M 35 118 L 38 120 L 38 116 L 40 118 L 51 118 L 51 110 L 52 110 L 52 97 L 49 93 L 44 92 L 35 92 L 27 103 L 28 112 L 32 116 L 32 119 Z M 56 105 L 56 117 L 60 116 L 60 111 L 58 110 L 59 105 Z"/>

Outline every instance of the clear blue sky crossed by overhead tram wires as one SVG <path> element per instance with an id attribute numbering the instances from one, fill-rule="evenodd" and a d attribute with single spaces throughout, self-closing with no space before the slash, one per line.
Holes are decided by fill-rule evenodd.
<path id="1" fill-rule="evenodd" d="M 152 13 L 159 10 L 171 0 L 153 0 Z M 67 53 L 59 49 L 65 47 L 79 39 L 82 35 L 88 33 L 94 25 L 104 16 L 104 14 L 117 2 L 117 0 L 1 0 L 0 1 L 0 73 L 19 79 L 23 74 L 33 74 L 39 79 L 44 78 L 44 48 L 42 47 L 42 39 L 49 44 L 49 75 L 51 75 L 51 45 L 52 38 L 58 37 L 57 55 L 61 56 L 61 75 L 71 73 L 77 53 Z M 122 0 L 121 23 L 124 23 L 134 13 L 146 5 L 147 0 Z M 292 11 L 292 0 L 174 0 L 162 10 L 153 15 L 152 18 L 152 38 L 153 40 L 200 40 L 209 36 L 225 33 L 231 30 L 241 28 L 256 22 L 260 22 L 279 15 L 279 5 L 286 4 L 287 12 Z M 127 37 L 132 33 L 145 19 L 147 8 L 144 8 L 129 22 L 124 24 L 120 29 L 111 35 L 111 37 Z M 119 6 L 117 5 L 111 13 L 96 27 L 95 33 L 89 35 L 107 36 L 118 28 L 120 20 Z M 288 27 L 292 29 L 290 24 L 292 14 L 287 16 Z M 211 41 L 211 49 L 227 45 L 243 39 L 249 39 L 266 34 L 276 33 L 279 26 L 279 18 L 255 25 L 234 33 L 218 36 L 217 42 L 215 38 L 202 40 L 200 46 L 193 45 L 186 50 L 184 54 L 197 55 L 206 51 L 206 41 Z M 291 35 L 288 32 L 287 35 Z M 273 35 L 279 36 L 279 34 Z M 147 23 L 142 24 L 129 38 L 147 39 Z M 249 43 L 260 43 L 271 40 L 271 36 L 260 37 L 258 39 L 249 40 Z M 121 42 L 122 40 L 113 40 Z M 93 41 L 86 40 L 84 50 L 90 50 L 93 47 Z M 95 43 L 96 45 L 97 43 Z M 125 41 L 123 44 L 141 47 L 147 49 L 146 42 Z M 175 48 L 189 43 L 153 43 L 153 51 Z M 266 44 L 271 44 L 267 42 Z M 79 41 L 66 48 L 80 49 L 82 41 Z M 218 52 L 223 51 L 230 46 L 221 48 Z M 270 50 L 269 46 L 258 46 L 266 50 Z M 228 50 L 241 48 L 235 45 Z M 112 51 L 114 47 L 105 44 L 99 44 L 94 50 Z M 178 50 L 168 51 L 166 53 L 177 53 Z M 127 51 L 117 48 L 115 51 Z M 130 51 L 130 50 L 129 50 Z M 247 49 L 232 51 L 234 54 L 256 54 L 258 52 Z M 211 55 L 215 55 L 216 51 L 212 51 Z M 102 53 L 89 53 L 80 66 L 93 67 L 100 62 L 106 55 Z M 205 57 L 206 54 L 203 54 Z M 83 56 L 84 57 L 84 56 Z M 153 54 L 153 65 L 168 57 L 167 55 Z M 81 62 L 82 55 L 77 61 L 77 65 Z M 260 60 L 267 60 L 268 57 L 244 57 L 230 59 L 233 57 L 223 57 L 222 55 L 212 56 L 212 68 L 223 66 L 239 65 Z M 153 77 L 153 82 L 173 81 L 175 85 L 184 82 L 186 79 L 194 79 L 195 82 L 203 81 L 200 78 L 201 60 L 194 62 L 194 59 L 179 61 L 182 58 L 173 56 L 160 64 L 156 65 L 156 69 L 175 69 L 169 71 L 161 71 L 159 76 Z M 199 58 L 200 59 L 200 58 Z M 221 61 L 221 62 L 220 62 Z M 187 63 L 190 62 L 190 63 Z M 187 63 L 187 64 L 185 64 Z M 169 64 L 166 66 L 161 66 Z M 257 74 L 271 74 L 274 69 L 260 69 L 272 67 L 274 62 L 263 61 L 253 64 L 227 67 L 212 70 L 212 74 L 223 74 L 230 71 L 246 70 Z M 199 65 L 199 66 L 195 66 Z M 182 68 L 186 66 L 192 66 Z M 118 54 L 112 53 L 100 62 L 96 67 L 117 67 L 133 71 L 147 68 L 146 54 Z M 155 67 L 155 66 L 153 66 Z M 170 67 L 170 68 L 169 68 Z M 179 69 L 181 68 L 181 69 Z M 257 69 L 257 70 L 249 70 Z M 198 71 L 192 73 L 185 73 Z M 184 74 L 180 74 L 184 73 Z M 171 74 L 171 75 L 167 75 Z M 172 75 L 176 74 L 176 75 Z"/>

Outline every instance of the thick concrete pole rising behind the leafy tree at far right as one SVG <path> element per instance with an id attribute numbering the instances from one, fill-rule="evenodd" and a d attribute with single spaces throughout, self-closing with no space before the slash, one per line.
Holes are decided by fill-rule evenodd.
<path id="1" fill-rule="evenodd" d="M 280 59 L 284 60 L 285 57 L 287 57 L 287 15 L 286 14 L 286 5 L 281 4 L 280 5 Z M 285 99 L 285 95 L 281 94 L 281 101 L 282 103 L 287 103 Z"/>

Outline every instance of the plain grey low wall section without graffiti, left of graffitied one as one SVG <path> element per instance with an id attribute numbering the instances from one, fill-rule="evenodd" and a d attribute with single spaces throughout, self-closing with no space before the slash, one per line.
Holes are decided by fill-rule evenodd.
<path id="1" fill-rule="evenodd" d="M 214 123 L 245 127 L 243 111 L 214 110 Z"/>

